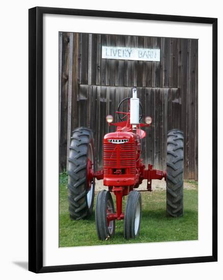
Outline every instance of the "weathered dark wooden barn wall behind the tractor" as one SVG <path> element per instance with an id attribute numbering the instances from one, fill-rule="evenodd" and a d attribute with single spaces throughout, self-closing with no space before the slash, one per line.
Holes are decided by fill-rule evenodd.
<path id="1" fill-rule="evenodd" d="M 166 132 L 184 132 L 184 178 L 198 179 L 198 40 L 98 34 L 59 34 L 60 170 L 66 169 L 70 135 L 77 126 L 94 130 L 101 166 L 105 122 L 137 87 L 146 115 L 153 118 L 142 156 L 165 169 Z M 101 59 L 101 47 L 160 48 L 160 62 Z M 117 118 L 117 117 L 116 117 Z"/>

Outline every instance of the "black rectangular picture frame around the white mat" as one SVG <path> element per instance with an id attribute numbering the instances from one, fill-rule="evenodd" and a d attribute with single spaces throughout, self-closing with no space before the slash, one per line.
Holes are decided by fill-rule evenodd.
<path id="1" fill-rule="evenodd" d="M 212 25 L 212 255 L 43 266 L 43 14 L 206 23 Z M 29 10 L 29 270 L 36 273 L 217 261 L 217 18 L 35 7 Z"/>

